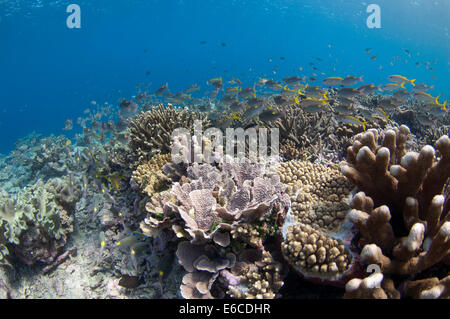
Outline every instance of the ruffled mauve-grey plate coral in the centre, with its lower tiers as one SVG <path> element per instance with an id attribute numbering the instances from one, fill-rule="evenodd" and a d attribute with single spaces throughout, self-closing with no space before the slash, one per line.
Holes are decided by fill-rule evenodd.
<path id="1" fill-rule="evenodd" d="M 168 200 L 159 201 L 163 207 L 155 198 L 149 202 L 141 229 L 152 236 L 156 230 L 169 231 L 181 239 L 177 256 L 188 272 L 182 296 L 211 298 L 228 292 L 239 298 L 273 298 L 282 286 L 281 264 L 265 250 L 264 241 L 276 233 L 277 216 L 289 206 L 284 188 L 277 174 L 266 173 L 264 164 L 229 158 L 218 167 L 194 163 L 185 181 L 173 184 L 173 197 L 160 193 Z M 260 257 L 244 262 L 242 254 L 249 248 Z M 253 277 L 242 271 L 244 264 Z M 250 289 L 262 279 L 260 289 Z"/>

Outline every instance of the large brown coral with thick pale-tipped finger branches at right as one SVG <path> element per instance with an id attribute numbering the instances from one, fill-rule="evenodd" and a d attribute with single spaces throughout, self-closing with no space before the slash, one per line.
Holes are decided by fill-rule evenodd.
<path id="1" fill-rule="evenodd" d="M 416 276 L 448 261 L 450 222 L 444 194 L 450 177 L 450 139 L 419 153 L 405 149 L 409 129 L 356 136 L 342 173 L 360 192 L 348 218 L 359 230 L 361 259 L 384 275 Z M 414 294 L 413 294 L 414 295 Z M 417 294 L 415 294 L 417 296 Z"/>

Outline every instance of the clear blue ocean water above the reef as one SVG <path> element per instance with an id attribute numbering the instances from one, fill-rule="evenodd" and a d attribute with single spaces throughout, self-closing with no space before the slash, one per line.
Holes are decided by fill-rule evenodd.
<path id="1" fill-rule="evenodd" d="M 81 29 L 66 26 L 71 3 Z M 366 25 L 371 3 L 380 29 Z M 139 83 L 401 74 L 448 98 L 449 16 L 448 0 L 0 0 L 0 153 L 33 131 L 67 134 L 91 101 L 117 104 Z"/>

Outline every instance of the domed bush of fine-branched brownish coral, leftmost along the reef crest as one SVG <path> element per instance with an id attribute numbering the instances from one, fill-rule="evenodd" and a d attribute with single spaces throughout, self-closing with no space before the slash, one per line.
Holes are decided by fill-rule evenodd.
<path id="1" fill-rule="evenodd" d="M 129 124 L 132 165 L 137 166 L 158 153 L 169 153 L 172 132 L 183 127 L 192 133 L 195 120 L 200 120 L 203 128 L 209 126 L 205 115 L 172 104 L 160 104 L 137 115 Z"/>

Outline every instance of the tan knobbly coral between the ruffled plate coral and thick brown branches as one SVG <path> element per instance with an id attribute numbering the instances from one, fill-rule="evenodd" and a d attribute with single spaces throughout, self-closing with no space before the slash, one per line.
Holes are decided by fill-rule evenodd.
<path id="1" fill-rule="evenodd" d="M 353 263 L 344 223 L 350 184 L 336 166 L 289 161 L 278 173 L 292 202 L 283 226 L 284 257 L 305 277 L 338 281 Z"/>

